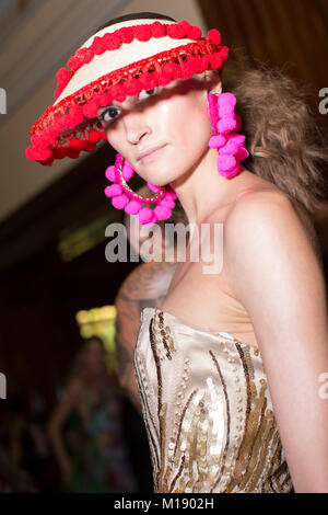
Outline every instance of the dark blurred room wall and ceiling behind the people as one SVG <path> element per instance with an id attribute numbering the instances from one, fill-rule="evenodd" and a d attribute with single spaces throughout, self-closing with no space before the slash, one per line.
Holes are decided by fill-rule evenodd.
<path id="1" fill-rule="evenodd" d="M 119 286 L 140 262 L 105 259 L 105 228 L 122 221 L 122 214 L 104 195 L 104 172 L 114 162 L 114 152 L 104 144 L 78 161 L 43 168 L 26 160 L 25 148 L 31 126 L 54 102 L 56 71 L 102 23 L 138 11 L 161 12 L 177 21 L 186 18 L 203 31 L 218 27 L 229 46 L 282 67 L 307 84 L 313 113 L 328 130 L 328 117 L 318 110 L 319 91 L 328 88 L 327 0 L 1 0 L 0 87 L 7 93 L 7 108 L 0 115 L 0 373 L 7 378 L 7 399 L 0 399 L 0 491 L 1 467 L 11 481 L 9 464 L 17 467 L 11 472 L 19 478 L 12 479 L 14 489 L 28 490 L 27 479 L 20 476 L 26 471 L 36 490 L 59 490 L 44 428 L 71 360 L 84 337 L 102 333 L 115 359 L 115 313 L 109 309 L 107 317 L 92 320 L 93 310 L 113 307 Z M 327 273 L 325 199 L 316 228 Z M 128 399 L 124 416 L 139 490 L 151 491 L 144 427 Z M 24 434 L 20 422 L 13 425 L 17 420 L 38 424 L 38 444 L 31 443 L 31 435 L 21 442 L 23 453 L 33 445 L 38 449 L 30 460 L 13 444 Z"/>

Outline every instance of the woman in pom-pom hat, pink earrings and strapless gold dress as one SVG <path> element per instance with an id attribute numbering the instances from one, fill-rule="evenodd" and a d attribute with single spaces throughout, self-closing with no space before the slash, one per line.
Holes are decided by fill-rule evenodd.
<path id="1" fill-rule="evenodd" d="M 326 289 L 308 215 L 327 152 L 283 75 L 247 72 L 222 93 L 227 53 L 185 20 L 108 22 L 59 71 L 27 157 L 51 165 L 104 138 L 115 207 L 151 225 L 178 197 L 191 225 L 134 348 L 155 491 L 328 492 Z M 152 198 L 130 191 L 134 170 Z M 201 224 L 223 228 L 215 273 L 190 256 Z"/>

